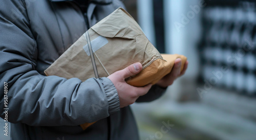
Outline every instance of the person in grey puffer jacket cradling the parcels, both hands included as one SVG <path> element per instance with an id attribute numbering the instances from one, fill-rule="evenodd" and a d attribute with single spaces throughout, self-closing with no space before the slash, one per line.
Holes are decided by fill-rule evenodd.
<path id="1" fill-rule="evenodd" d="M 179 73 L 156 85 L 133 87 L 124 79 L 139 73 L 140 63 L 108 78 L 46 77 L 49 67 L 78 37 L 123 4 L 118 0 L 9 0 L 0 6 L 1 117 L 8 83 L 8 122 L 12 139 L 138 139 L 129 107 L 152 101 Z M 97 109 L 93 106 L 97 105 Z M 86 130 L 79 126 L 95 122 Z"/>

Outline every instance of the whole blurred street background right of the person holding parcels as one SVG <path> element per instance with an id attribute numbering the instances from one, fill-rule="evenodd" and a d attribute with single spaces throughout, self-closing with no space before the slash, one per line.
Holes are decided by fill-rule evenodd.
<path id="1" fill-rule="evenodd" d="M 126 0 L 160 53 L 186 74 L 132 105 L 141 139 L 256 139 L 256 1 Z"/>

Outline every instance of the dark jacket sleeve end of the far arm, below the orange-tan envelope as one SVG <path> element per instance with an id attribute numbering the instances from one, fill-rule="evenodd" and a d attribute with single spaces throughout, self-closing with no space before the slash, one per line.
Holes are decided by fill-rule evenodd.
<path id="1" fill-rule="evenodd" d="M 162 88 L 158 85 L 153 85 L 151 87 L 151 89 L 147 92 L 147 94 L 140 96 L 136 102 L 151 102 L 154 101 L 158 98 L 160 98 L 164 92 L 165 92 L 166 88 Z"/>

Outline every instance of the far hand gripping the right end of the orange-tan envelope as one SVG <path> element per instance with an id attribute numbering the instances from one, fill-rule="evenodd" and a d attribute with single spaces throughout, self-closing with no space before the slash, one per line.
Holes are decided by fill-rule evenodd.
<path id="1" fill-rule="evenodd" d="M 167 87 L 169 85 L 172 85 L 174 80 L 182 75 L 185 74 L 186 69 L 187 69 L 187 65 L 188 65 L 188 61 L 186 61 L 186 63 L 184 64 L 184 68 L 182 70 L 182 72 L 180 72 L 180 68 L 181 68 L 181 59 L 178 58 L 175 60 L 174 62 L 174 66 L 172 71 L 167 74 L 166 76 L 164 76 L 160 81 L 157 82 L 157 85 L 161 86 L 161 87 Z"/>

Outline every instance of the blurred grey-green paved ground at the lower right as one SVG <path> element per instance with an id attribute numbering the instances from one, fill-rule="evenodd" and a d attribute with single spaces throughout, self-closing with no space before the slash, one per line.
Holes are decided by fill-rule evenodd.
<path id="1" fill-rule="evenodd" d="M 159 99 L 132 105 L 141 139 L 256 139 L 256 122 L 203 103 Z M 168 132 L 163 122 L 173 124 Z"/>

